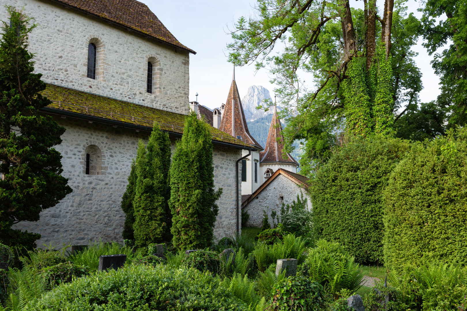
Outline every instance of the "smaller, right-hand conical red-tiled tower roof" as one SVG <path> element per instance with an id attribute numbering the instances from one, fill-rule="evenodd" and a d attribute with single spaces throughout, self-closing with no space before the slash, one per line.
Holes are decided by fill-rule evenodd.
<path id="1" fill-rule="evenodd" d="M 269 126 L 268 139 L 264 151 L 260 152 L 260 163 L 280 162 L 280 163 L 293 163 L 298 166 L 298 162 L 286 153 L 285 159 L 282 156 L 284 149 L 284 137 L 281 134 L 282 124 L 279 116 L 277 115 L 277 108 L 274 105 L 274 113 L 272 114 L 271 125 Z M 277 139 L 279 138 L 279 140 Z"/>

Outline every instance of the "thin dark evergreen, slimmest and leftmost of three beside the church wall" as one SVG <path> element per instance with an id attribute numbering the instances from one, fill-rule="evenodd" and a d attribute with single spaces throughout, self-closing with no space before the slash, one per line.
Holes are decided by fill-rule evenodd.
<path id="1" fill-rule="evenodd" d="M 125 223 L 123 225 L 122 236 L 124 239 L 134 241 L 134 187 L 136 185 L 136 161 L 133 160 L 131 164 L 130 176 L 128 176 L 127 190 L 121 197 L 121 209 L 125 213 Z"/>

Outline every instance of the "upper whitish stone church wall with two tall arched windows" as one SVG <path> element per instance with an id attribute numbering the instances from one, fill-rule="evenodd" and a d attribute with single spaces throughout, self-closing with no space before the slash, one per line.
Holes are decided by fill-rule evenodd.
<path id="1" fill-rule="evenodd" d="M 0 0 L 0 4 L 0 20 L 8 21 L 7 4 L 24 7 L 24 13 L 39 24 L 29 36 L 29 51 L 36 54 L 35 72 L 42 73 L 43 81 L 188 114 L 188 52 L 50 0 Z M 87 77 L 89 43 L 97 48 L 95 80 Z M 153 94 L 146 92 L 148 61 L 154 65 Z"/>

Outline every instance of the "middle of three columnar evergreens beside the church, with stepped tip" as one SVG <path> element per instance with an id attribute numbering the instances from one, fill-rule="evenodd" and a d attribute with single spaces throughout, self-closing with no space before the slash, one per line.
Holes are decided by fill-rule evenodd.
<path id="1" fill-rule="evenodd" d="M 136 246 L 170 238 L 170 138 L 154 124 L 147 150 L 140 140 L 134 187 L 134 240 Z"/>

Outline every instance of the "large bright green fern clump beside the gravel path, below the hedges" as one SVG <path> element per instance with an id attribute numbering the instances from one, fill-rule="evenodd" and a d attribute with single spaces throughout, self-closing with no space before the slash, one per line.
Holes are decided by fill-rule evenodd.
<path id="1" fill-rule="evenodd" d="M 317 247 L 309 251 L 300 274 L 325 286 L 333 294 L 342 289 L 357 291 L 363 279 L 354 257 L 338 243 L 325 240 L 319 240 Z"/>

